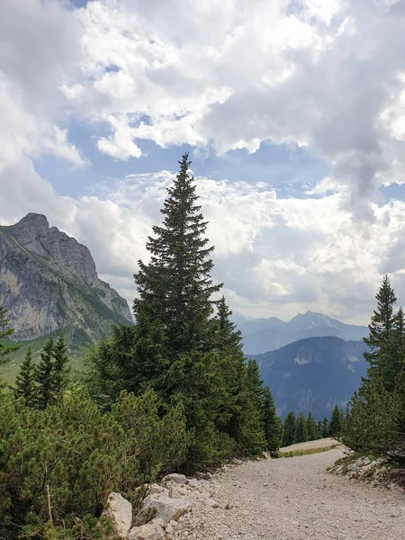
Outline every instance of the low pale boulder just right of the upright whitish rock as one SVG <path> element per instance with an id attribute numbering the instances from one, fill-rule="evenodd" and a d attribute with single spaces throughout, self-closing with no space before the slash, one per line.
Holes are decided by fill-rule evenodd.
<path id="1" fill-rule="evenodd" d="M 190 498 L 170 499 L 162 495 L 158 499 L 151 499 L 143 506 L 135 518 L 135 525 L 141 526 L 150 518 L 162 519 L 164 527 L 172 520 L 177 520 L 192 509 L 193 503 Z"/>

